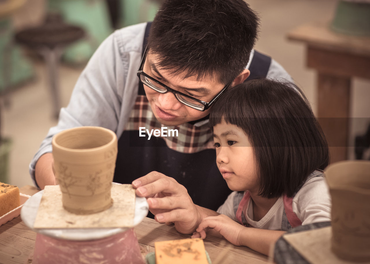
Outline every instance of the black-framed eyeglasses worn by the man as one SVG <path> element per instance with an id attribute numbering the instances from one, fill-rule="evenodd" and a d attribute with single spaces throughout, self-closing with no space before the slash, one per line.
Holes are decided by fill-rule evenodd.
<path id="1" fill-rule="evenodd" d="M 182 95 L 182 96 L 184 96 L 184 97 L 186 97 L 186 98 L 192 99 L 192 100 L 194 100 L 194 101 L 196 101 L 196 102 L 198 102 L 198 103 L 202 104 L 202 105 L 203 105 L 203 109 L 201 109 L 201 110 L 200 110 L 200 109 L 195 108 L 195 107 L 193 107 L 193 106 L 187 105 L 187 104 L 185 104 L 184 102 L 181 102 L 181 101 L 180 101 L 180 100 L 175 96 L 175 98 L 176 98 L 179 102 L 181 102 L 182 104 L 184 104 L 184 105 L 186 105 L 186 106 L 189 106 L 189 107 L 191 107 L 191 108 L 193 108 L 193 109 L 196 109 L 196 110 L 198 110 L 198 111 L 203 112 L 203 111 L 207 110 L 208 108 L 210 108 L 210 107 L 211 107 L 211 105 L 212 105 L 214 102 L 216 102 L 216 100 L 220 97 L 220 95 L 221 95 L 221 94 L 222 94 L 222 93 L 223 93 L 223 92 L 224 92 L 224 91 L 229 87 L 229 85 L 231 84 L 231 83 L 226 84 L 226 85 L 225 85 L 225 87 L 223 87 L 223 88 L 222 88 L 222 90 L 221 90 L 218 94 L 216 94 L 216 95 L 215 95 L 215 97 L 213 97 L 213 98 L 211 99 L 211 101 L 209 101 L 209 102 L 205 102 L 205 101 L 202 101 L 202 100 L 196 99 L 196 98 L 194 98 L 194 97 L 191 97 L 190 95 L 187 95 L 187 94 L 184 94 L 184 93 L 182 93 L 182 92 L 176 91 L 176 90 L 174 90 L 174 89 L 172 89 L 172 88 L 168 87 L 167 85 L 162 84 L 162 82 L 160 82 L 160 81 L 158 81 L 158 80 L 154 79 L 153 77 L 149 76 L 149 75 L 148 75 L 148 74 L 146 74 L 144 71 L 142 71 L 142 68 L 144 67 L 145 58 L 146 58 L 146 56 L 147 56 L 147 48 L 148 48 L 148 46 L 147 46 L 147 47 L 145 47 L 144 54 L 143 54 L 143 56 L 142 56 L 142 58 L 141 58 L 140 67 L 139 67 L 139 70 L 137 71 L 137 76 L 138 76 L 138 78 L 139 78 L 139 81 L 140 81 L 140 82 L 142 82 L 142 84 L 144 84 L 144 85 L 148 86 L 148 85 L 147 85 L 147 84 L 145 84 L 145 83 L 141 80 L 141 78 L 140 78 L 140 75 L 143 75 L 143 76 L 145 76 L 145 77 L 147 77 L 147 78 L 151 79 L 152 81 L 157 82 L 157 84 L 162 85 L 164 88 L 166 88 L 166 89 L 167 89 L 167 91 L 166 91 L 166 92 L 170 91 L 170 92 L 172 92 L 173 94 L 179 94 L 179 95 Z M 151 88 L 150 86 L 148 86 L 148 87 L 149 87 L 149 88 Z M 151 88 L 151 89 L 153 89 L 153 88 Z M 155 90 L 155 89 L 153 89 L 153 90 L 154 90 L 154 91 L 156 91 L 156 92 L 158 92 L 158 91 L 157 91 L 157 90 Z M 163 93 L 161 93 L 161 94 L 165 94 L 166 92 L 163 92 Z"/>

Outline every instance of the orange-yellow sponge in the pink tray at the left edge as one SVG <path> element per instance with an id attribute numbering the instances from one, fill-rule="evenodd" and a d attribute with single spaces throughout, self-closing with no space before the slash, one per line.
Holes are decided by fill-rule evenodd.
<path id="1" fill-rule="evenodd" d="M 20 206 L 17 186 L 0 182 L 0 216 Z"/>

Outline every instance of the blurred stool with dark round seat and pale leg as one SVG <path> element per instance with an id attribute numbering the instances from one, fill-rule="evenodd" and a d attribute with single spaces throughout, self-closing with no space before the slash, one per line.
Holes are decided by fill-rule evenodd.
<path id="1" fill-rule="evenodd" d="M 22 30 L 15 36 L 17 42 L 37 51 L 46 62 L 55 118 L 60 111 L 58 65 L 61 54 L 67 45 L 84 35 L 82 28 L 65 24 L 58 14 L 48 14 L 45 24 Z"/>

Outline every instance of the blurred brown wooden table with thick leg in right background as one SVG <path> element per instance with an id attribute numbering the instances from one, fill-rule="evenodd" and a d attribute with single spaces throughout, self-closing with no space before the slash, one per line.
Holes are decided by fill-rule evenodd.
<path id="1" fill-rule="evenodd" d="M 329 23 L 310 23 L 287 34 L 306 44 L 307 67 L 317 70 L 317 117 L 331 162 L 347 159 L 351 79 L 370 79 L 370 37 L 334 33 Z"/>

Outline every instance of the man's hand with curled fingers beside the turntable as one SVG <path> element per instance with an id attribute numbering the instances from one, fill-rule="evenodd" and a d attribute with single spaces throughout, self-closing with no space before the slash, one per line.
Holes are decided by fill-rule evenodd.
<path id="1" fill-rule="evenodd" d="M 175 179 L 159 172 L 150 172 L 132 182 L 136 194 L 147 197 L 149 210 L 159 223 L 173 222 L 176 230 L 191 234 L 201 222 L 202 216 L 188 191 Z"/>

